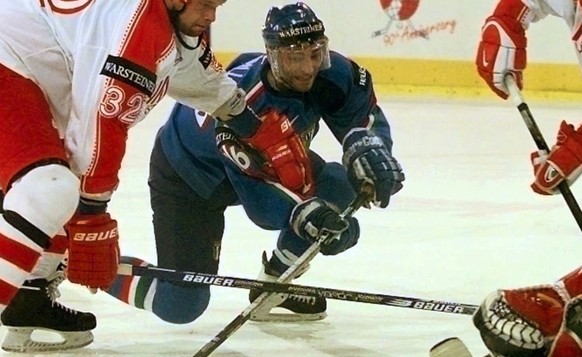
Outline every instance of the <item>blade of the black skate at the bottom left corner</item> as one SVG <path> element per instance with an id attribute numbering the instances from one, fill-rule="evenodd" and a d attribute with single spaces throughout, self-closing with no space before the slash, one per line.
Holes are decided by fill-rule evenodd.
<path id="1" fill-rule="evenodd" d="M 7 327 L 2 340 L 2 349 L 7 352 L 36 353 L 82 348 L 93 342 L 91 331 L 63 332 L 30 327 Z M 39 341 L 32 338 L 33 332 L 46 331 L 61 337 L 60 341 Z"/>

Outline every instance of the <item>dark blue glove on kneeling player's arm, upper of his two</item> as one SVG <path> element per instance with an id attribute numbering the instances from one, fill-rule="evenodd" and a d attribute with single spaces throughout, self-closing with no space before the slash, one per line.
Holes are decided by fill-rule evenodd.
<path id="1" fill-rule="evenodd" d="M 357 130 L 344 139 L 343 148 L 342 162 L 354 190 L 372 186 L 374 205 L 387 207 L 390 196 L 402 188 L 404 173 L 382 139 L 369 130 Z"/>

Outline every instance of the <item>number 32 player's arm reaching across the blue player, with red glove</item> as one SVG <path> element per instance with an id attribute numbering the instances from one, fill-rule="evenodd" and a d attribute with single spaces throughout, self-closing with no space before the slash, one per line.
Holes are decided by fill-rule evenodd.
<path id="1" fill-rule="evenodd" d="M 309 196 L 313 192 L 309 158 L 288 118 L 276 108 L 262 113 L 250 108 L 245 91 L 227 76 L 204 45 L 200 46 L 204 56 L 188 56 L 180 64 L 168 93 L 186 105 L 211 113 L 265 158 L 276 181 Z M 205 58 L 210 60 L 205 62 Z M 192 81 L 194 73 L 200 80 Z"/>

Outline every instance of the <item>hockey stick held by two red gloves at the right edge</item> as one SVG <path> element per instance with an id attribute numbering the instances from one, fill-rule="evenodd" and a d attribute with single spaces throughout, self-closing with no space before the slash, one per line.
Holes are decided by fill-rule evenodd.
<path id="1" fill-rule="evenodd" d="M 517 106 L 517 110 L 519 110 L 519 113 L 521 114 L 523 121 L 525 122 L 525 125 L 527 126 L 538 149 L 550 152 L 550 148 L 548 147 L 548 144 L 546 144 L 546 141 L 542 136 L 542 132 L 536 124 L 533 115 L 529 110 L 529 106 L 525 102 L 525 99 L 523 98 L 523 95 L 521 94 L 521 91 L 515 83 L 515 79 L 512 75 L 505 76 L 505 85 L 509 89 L 509 96 Z M 558 189 L 560 190 L 562 197 L 564 197 L 568 208 L 570 208 L 570 212 L 572 212 L 576 223 L 578 223 L 578 227 L 582 230 L 582 211 L 580 210 L 580 206 L 578 205 L 578 202 L 576 202 L 576 198 L 572 194 L 568 183 L 565 180 L 560 182 Z"/>

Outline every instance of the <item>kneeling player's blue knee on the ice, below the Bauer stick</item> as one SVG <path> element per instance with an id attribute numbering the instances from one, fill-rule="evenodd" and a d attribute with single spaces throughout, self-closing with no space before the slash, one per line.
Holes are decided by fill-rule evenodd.
<path id="1" fill-rule="evenodd" d="M 152 311 L 160 319 L 173 324 L 187 324 L 196 320 L 208 307 L 208 286 L 181 286 L 158 281 Z"/>

